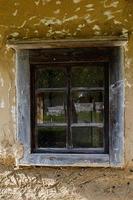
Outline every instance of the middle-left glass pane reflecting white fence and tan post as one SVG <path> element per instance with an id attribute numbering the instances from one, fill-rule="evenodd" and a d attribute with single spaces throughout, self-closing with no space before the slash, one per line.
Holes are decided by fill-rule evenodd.
<path id="1" fill-rule="evenodd" d="M 42 92 L 37 94 L 37 123 L 66 122 L 65 96 L 63 92 Z"/>

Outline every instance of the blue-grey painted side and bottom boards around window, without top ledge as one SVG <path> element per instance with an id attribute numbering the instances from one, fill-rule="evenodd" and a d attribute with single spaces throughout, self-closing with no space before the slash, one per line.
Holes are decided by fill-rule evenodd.
<path id="1" fill-rule="evenodd" d="M 17 50 L 17 139 L 24 147 L 17 165 L 122 167 L 124 164 L 123 50 L 115 47 L 110 76 L 110 145 L 107 154 L 31 153 L 29 50 Z"/>

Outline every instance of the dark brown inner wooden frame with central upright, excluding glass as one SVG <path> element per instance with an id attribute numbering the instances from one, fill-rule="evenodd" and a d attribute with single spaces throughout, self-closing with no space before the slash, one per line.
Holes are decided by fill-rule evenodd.
<path id="1" fill-rule="evenodd" d="M 91 51 L 92 49 L 92 51 Z M 30 54 L 30 74 L 31 74 L 31 141 L 32 141 L 32 153 L 91 153 L 91 154 L 101 154 L 101 153 L 108 153 L 109 152 L 109 49 L 106 48 L 102 48 L 99 50 L 99 48 L 85 48 L 85 53 L 88 55 L 88 57 L 86 57 L 86 55 L 84 55 L 84 48 L 76 48 L 76 49 L 60 49 L 61 51 L 57 53 L 57 49 L 52 49 L 52 51 L 50 50 L 32 50 L 31 54 Z M 111 49 L 112 50 L 112 49 Z M 70 57 L 70 53 L 72 54 L 74 52 L 74 54 L 76 54 L 76 52 L 78 52 L 78 54 L 80 54 L 80 58 L 77 59 L 77 56 L 75 56 L 74 58 Z M 106 55 L 105 52 L 107 52 Z M 68 55 L 67 55 L 68 53 Z M 46 55 L 48 54 L 48 59 Z M 54 58 L 56 58 L 55 60 L 51 60 L 52 56 L 54 54 Z M 65 54 L 65 61 L 62 61 L 62 57 Z M 100 56 L 99 56 L 100 54 Z M 41 63 L 40 63 L 40 58 L 38 58 L 38 55 L 41 57 Z M 93 57 L 93 58 L 92 58 Z M 101 58 L 101 59 L 100 59 Z M 46 60 L 47 59 L 47 60 Z M 85 59 L 85 60 L 84 60 Z M 107 62 L 108 61 L 108 62 Z M 36 105 L 36 101 L 35 101 L 35 93 L 39 92 L 39 91 L 43 91 L 43 90 L 47 90 L 45 89 L 39 89 L 36 90 L 35 89 L 35 71 L 36 69 L 44 69 L 44 68 L 49 68 L 49 67 L 61 67 L 61 68 L 65 68 L 67 69 L 69 74 L 69 68 L 70 67 L 74 67 L 74 66 L 78 66 L 81 65 L 82 66 L 87 66 L 87 65 L 91 65 L 91 67 L 93 67 L 93 65 L 99 65 L 104 67 L 104 148 L 70 148 L 70 146 L 72 146 L 71 142 L 72 142 L 72 135 L 70 134 L 70 121 L 71 121 L 71 100 L 67 99 L 67 110 L 68 110 L 68 117 L 67 117 L 67 135 L 66 135 L 66 145 L 68 146 L 68 148 L 64 149 L 64 148 L 38 148 L 37 147 L 37 135 L 36 135 L 36 128 L 37 125 L 35 123 L 35 105 Z M 68 93 L 70 93 L 70 78 L 67 78 L 67 89 L 68 89 Z M 91 88 L 90 88 L 91 89 Z M 56 88 L 54 90 L 57 90 Z M 103 88 L 92 88 L 92 90 L 103 90 Z M 67 97 L 70 97 L 70 94 L 67 95 Z M 42 125 L 43 126 L 43 125 Z M 90 124 L 91 127 L 91 124 Z M 97 127 L 97 125 L 95 125 L 95 127 Z"/>

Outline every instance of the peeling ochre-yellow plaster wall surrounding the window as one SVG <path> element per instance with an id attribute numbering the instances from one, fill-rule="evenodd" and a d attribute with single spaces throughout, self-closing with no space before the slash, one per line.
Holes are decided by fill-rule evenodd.
<path id="1" fill-rule="evenodd" d="M 15 158 L 15 52 L 7 39 L 128 36 L 125 47 L 125 168 L 22 168 Z M 132 0 L 0 1 L 0 199 L 133 199 Z"/>

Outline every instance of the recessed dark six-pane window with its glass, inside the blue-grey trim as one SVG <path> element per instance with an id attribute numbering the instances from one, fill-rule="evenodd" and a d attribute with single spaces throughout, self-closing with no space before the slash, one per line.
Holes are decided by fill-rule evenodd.
<path id="1" fill-rule="evenodd" d="M 71 50 L 66 60 L 67 51 L 60 52 L 64 62 L 59 52 L 57 62 L 51 61 L 52 55 L 45 60 L 45 52 L 31 62 L 32 150 L 107 153 L 109 62 L 104 56 L 100 60 L 96 49 L 98 59 L 89 49 L 89 60 L 86 49 L 85 55 L 84 49 L 81 55 L 81 49 Z M 78 60 L 74 60 L 74 52 L 80 56 Z M 91 61 L 90 54 L 94 57 Z"/>

